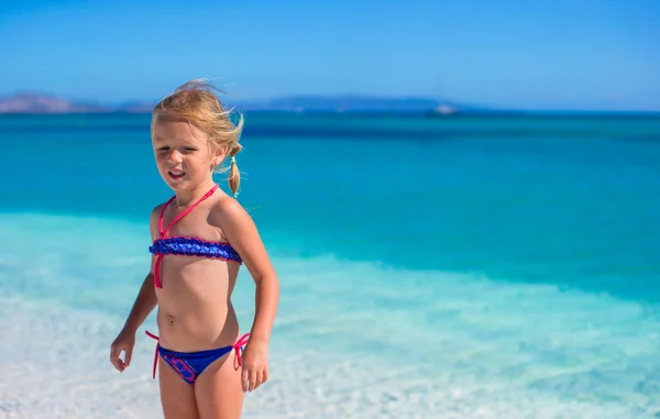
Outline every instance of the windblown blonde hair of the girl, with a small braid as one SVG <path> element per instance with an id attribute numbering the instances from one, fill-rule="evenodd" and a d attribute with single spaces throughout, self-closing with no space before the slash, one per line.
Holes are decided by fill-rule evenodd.
<path id="1" fill-rule="evenodd" d="M 243 148 L 239 144 L 243 131 L 243 115 L 240 115 L 237 123 L 232 122 L 232 111 L 224 109 L 215 91 L 223 93 L 205 79 L 194 79 L 177 87 L 154 108 L 152 132 L 158 114 L 167 113 L 182 118 L 204 131 L 212 148 L 227 147 L 227 155 L 230 156 L 228 181 L 235 198 L 239 195 L 241 173 L 234 156 Z M 220 163 L 222 162 L 218 162 L 216 167 Z M 224 173 L 227 169 L 226 167 L 220 172 Z"/>

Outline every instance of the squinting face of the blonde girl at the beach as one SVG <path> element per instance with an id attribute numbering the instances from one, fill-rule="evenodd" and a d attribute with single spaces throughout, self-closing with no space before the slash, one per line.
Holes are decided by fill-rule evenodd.
<path id="1" fill-rule="evenodd" d="M 175 191 L 197 188 L 212 179 L 211 173 L 224 151 L 210 147 L 208 136 L 184 119 L 155 117 L 152 144 L 163 180 Z"/>

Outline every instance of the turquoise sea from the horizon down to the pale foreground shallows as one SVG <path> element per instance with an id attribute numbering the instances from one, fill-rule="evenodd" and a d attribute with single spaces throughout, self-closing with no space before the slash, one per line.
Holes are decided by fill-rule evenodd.
<path id="1" fill-rule="evenodd" d="M 162 417 L 153 315 L 109 362 L 170 197 L 148 121 L 0 117 L 0 418 Z M 282 296 L 244 418 L 660 417 L 660 118 L 245 123 Z"/>

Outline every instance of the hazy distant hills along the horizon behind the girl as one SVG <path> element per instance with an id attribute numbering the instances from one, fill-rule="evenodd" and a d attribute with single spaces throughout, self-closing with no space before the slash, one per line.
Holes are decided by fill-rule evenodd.
<path id="1" fill-rule="evenodd" d="M 81 103 L 50 95 L 18 93 L 0 98 L 0 113 L 148 113 L 154 103 L 127 102 L 118 106 Z M 273 112 L 406 112 L 455 113 L 471 108 L 428 98 L 377 98 L 362 96 L 294 96 L 237 103 L 242 111 Z"/>

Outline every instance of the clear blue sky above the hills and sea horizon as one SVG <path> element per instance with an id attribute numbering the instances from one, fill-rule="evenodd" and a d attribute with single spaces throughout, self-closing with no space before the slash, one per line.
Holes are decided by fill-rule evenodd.
<path id="1" fill-rule="evenodd" d="M 660 110 L 660 0 L 3 1 L 0 95 L 425 96 Z"/>

